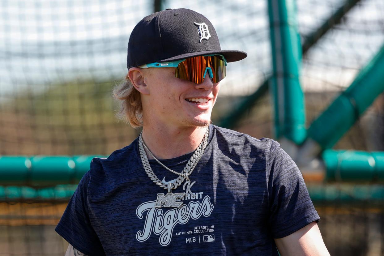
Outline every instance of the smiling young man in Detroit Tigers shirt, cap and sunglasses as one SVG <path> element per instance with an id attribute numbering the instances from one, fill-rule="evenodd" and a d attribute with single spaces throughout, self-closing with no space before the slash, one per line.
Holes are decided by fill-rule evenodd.
<path id="1" fill-rule="evenodd" d="M 280 144 L 210 124 L 227 63 L 246 56 L 192 10 L 136 25 L 114 95 L 142 133 L 92 160 L 56 227 L 66 255 L 329 255 Z"/>

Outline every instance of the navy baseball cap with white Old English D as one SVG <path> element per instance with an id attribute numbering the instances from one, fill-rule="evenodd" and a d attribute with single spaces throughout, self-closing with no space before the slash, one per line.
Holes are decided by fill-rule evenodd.
<path id="1" fill-rule="evenodd" d="M 214 26 L 202 14 L 166 9 L 143 18 L 132 30 L 127 68 L 208 54 L 223 55 L 227 62 L 247 57 L 244 51 L 222 51 Z"/>

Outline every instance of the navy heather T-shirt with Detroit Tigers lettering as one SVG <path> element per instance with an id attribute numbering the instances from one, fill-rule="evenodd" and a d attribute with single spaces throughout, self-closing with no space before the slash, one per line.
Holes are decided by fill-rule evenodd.
<path id="1" fill-rule="evenodd" d="M 278 255 L 273 238 L 319 221 L 300 170 L 278 142 L 214 125 L 208 142 L 179 208 L 154 207 L 167 190 L 144 171 L 138 139 L 94 158 L 56 232 L 87 255 L 271 256 Z M 181 172 L 192 154 L 162 163 Z M 149 162 L 160 180 L 177 178 Z M 185 192 L 183 185 L 172 192 Z"/>

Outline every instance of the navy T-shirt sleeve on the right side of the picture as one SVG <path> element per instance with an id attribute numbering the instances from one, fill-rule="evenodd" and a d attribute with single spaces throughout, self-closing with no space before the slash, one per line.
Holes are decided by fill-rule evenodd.
<path id="1" fill-rule="evenodd" d="M 282 238 L 320 217 L 315 210 L 303 175 L 291 157 L 273 140 L 268 158 L 268 224 L 273 238 Z"/>

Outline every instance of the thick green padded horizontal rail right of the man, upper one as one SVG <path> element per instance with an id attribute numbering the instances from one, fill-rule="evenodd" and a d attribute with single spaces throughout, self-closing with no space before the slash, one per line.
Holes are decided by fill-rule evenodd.
<path id="1" fill-rule="evenodd" d="M 327 149 L 322 157 L 328 181 L 384 181 L 384 152 Z"/>

